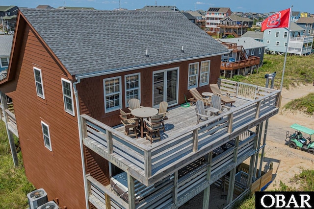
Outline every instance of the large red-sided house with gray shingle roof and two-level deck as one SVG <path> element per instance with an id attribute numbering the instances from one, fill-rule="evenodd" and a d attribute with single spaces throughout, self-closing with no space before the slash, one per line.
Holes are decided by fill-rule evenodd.
<path id="1" fill-rule="evenodd" d="M 21 8 L 0 91 L 27 179 L 69 209 L 178 208 L 202 191 L 205 209 L 214 183 L 229 206 L 259 190 L 280 91 L 221 80 L 235 102 L 199 124 L 195 106 L 181 106 L 190 89 L 210 91 L 228 53 L 181 12 Z M 131 98 L 168 103 L 160 141 L 125 135 Z"/>

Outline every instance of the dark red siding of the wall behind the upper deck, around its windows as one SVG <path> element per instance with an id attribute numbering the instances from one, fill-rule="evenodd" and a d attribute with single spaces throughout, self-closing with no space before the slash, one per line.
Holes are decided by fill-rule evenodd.
<path id="1" fill-rule="evenodd" d="M 93 78 L 81 79 L 78 84 L 78 94 L 80 101 L 80 112 L 81 114 L 87 114 L 102 121 L 109 126 L 115 126 L 120 124 L 119 110 L 105 113 L 105 100 L 104 100 L 104 84 L 105 78 L 121 76 L 121 92 L 122 92 L 122 109 L 129 112 L 125 107 L 125 79 L 124 76 L 127 74 L 140 73 L 141 76 L 141 105 L 152 107 L 152 88 L 153 88 L 153 71 L 166 70 L 171 68 L 179 68 L 179 104 L 185 103 L 184 94 L 187 98 L 192 97 L 187 90 L 188 81 L 188 67 L 190 63 L 210 60 L 210 75 L 209 83 L 217 83 L 217 79 L 220 76 L 220 60 L 221 56 L 215 56 L 205 59 L 197 59 L 191 61 L 185 61 L 180 63 L 174 63 L 169 65 L 157 66 L 152 68 L 132 70 L 128 72 L 115 73 L 110 75 L 104 75 Z M 200 79 L 200 73 L 199 73 Z M 200 83 L 200 82 L 198 82 Z M 208 92 L 209 85 L 197 88 L 200 92 Z"/>

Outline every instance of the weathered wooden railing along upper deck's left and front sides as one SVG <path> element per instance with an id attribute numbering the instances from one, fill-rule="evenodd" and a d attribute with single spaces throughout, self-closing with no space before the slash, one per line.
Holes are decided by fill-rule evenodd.
<path id="1" fill-rule="evenodd" d="M 149 146 L 138 143 L 90 116 L 81 115 L 84 144 L 93 147 L 94 151 L 109 162 L 128 170 L 144 185 L 151 185 L 167 173 L 170 174 L 183 164 L 196 160 L 277 114 L 280 91 L 267 91 L 267 95 L 206 122 L 186 127 L 176 135 L 163 139 L 162 143 Z"/>

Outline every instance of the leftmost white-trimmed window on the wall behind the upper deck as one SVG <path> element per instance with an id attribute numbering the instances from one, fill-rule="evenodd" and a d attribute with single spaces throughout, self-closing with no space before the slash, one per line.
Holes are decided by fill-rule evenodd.
<path id="1" fill-rule="evenodd" d="M 121 76 L 104 79 L 105 112 L 122 108 Z"/>

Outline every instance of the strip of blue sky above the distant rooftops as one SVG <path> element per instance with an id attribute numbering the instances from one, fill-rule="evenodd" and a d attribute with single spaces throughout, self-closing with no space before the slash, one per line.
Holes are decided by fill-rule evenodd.
<path id="1" fill-rule="evenodd" d="M 121 8 L 137 9 L 145 5 L 176 5 L 180 10 L 207 10 L 209 7 L 230 7 L 231 11 L 271 12 L 288 9 L 293 4 L 293 11 L 314 13 L 313 0 L 120 0 Z M 38 5 L 72 7 L 94 7 L 99 10 L 119 8 L 119 0 L 2 0 L 0 5 L 16 5 L 35 8 Z M 310 6 L 311 5 L 311 6 Z"/>

